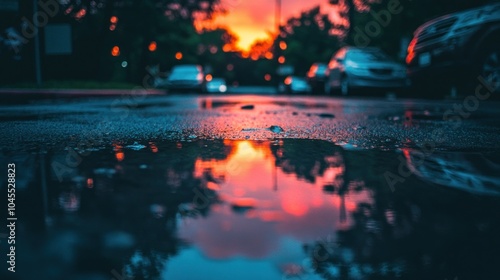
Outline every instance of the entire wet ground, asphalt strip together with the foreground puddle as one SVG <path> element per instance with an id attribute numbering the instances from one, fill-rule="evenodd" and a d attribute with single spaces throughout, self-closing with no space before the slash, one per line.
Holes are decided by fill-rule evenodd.
<path id="1" fill-rule="evenodd" d="M 500 103 L 473 101 L 2 104 L 19 220 L 0 278 L 495 279 Z"/>

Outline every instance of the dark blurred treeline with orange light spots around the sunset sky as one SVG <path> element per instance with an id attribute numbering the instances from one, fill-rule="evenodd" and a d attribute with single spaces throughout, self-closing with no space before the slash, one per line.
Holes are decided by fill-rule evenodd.
<path id="1" fill-rule="evenodd" d="M 0 11 L 0 85 L 35 80 L 33 6 L 19 1 L 18 11 Z M 328 2 L 328 0 L 325 0 Z M 195 27 L 225 12 L 220 0 L 41 1 L 38 26 L 43 80 L 93 80 L 149 85 L 152 68 L 198 63 L 229 83 L 265 84 L 282 64 L 303 75 L 314 62 L 327 62 L 342 45 L 377 46 L 402 59 L 414 30 L 434 17 L 488 0 L 330 0 L 340 12 L 319 7 L 286 19 L 273 42 L 257 42 L 250 54 L 235 47 L 237 37 L 224 28 Z M 46 27 L 71 26 L 71 54 L 47 55 Z"/>

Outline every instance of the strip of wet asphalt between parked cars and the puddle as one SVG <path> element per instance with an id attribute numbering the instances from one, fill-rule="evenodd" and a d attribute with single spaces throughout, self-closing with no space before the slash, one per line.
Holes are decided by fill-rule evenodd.
<path id="1" fill-rule="evenodd" d="M 474 102 L 477 101 L 477 102 Z M 500 103 L 273 95 L 128 95 L 0 105 L 1 147 L 299 138 L 345 148 L 497 151 Z"/>

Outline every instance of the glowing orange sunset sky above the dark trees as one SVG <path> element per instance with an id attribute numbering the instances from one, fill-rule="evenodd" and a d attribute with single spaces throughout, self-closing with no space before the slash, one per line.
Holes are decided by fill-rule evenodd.
<path id="1" fill-rule="evenodd" d="M 227 14 L 217 15 L 211 23 L 214 26 L 225 26 L 239 37 L 237 46 L 248 50 L 257 39 L 269 38 L 269 32 L 276 30 L 274 23 L 275 0 L 222 0 Z M 321 6 L 322 12 L 328 12 L 335 18 L 335 7 L 328 0 L 282 0 L 281 22 L 300 12 Z"/>

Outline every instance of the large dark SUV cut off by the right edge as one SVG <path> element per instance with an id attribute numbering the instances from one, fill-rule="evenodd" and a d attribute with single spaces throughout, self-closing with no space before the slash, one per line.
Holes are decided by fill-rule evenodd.
<path id="1" fill-rule="evenodd" d="M 413 84 L 425 87 L 424 92 L 445 86 L 451 95 L 470 94 L 480 83 L 487 83 L 483 86 L 498 93 L 500 3 L 424 23 L 408 46 L 406 63 Z"/>

